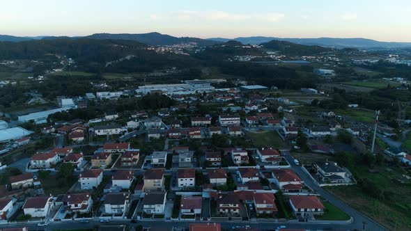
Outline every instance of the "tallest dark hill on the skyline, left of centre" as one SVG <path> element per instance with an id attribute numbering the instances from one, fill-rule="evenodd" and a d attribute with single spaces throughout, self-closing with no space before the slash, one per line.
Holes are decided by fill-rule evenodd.
<path id="1" fill-rule="evenodd" d="M 200 46 L 215 45 L 219 42 L 212 40 L 203 40 L 201 38 L 189 38 L 189 37 L 174 37 L 171 35 L 165 35 L 162 33 L 95 33 L 88 35 L 84 38 L 93 39 L 121 39 L 132 40 L 144 43 L 146 45 L 178 45 L 187 42 L 196 42 Z"/>

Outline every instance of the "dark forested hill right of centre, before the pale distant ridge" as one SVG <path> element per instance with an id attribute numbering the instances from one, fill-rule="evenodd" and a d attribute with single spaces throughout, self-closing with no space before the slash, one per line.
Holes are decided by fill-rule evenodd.
<path id="1" fill-rule="evenodd" d="M 334 50 L 327 47 L 300 45 L 293 42 L 279 40 L 264 42 L 261 43 L 261 46 L 272 51 L 279 51 L 281 54 L 286 56 L 311 56 Z"/>

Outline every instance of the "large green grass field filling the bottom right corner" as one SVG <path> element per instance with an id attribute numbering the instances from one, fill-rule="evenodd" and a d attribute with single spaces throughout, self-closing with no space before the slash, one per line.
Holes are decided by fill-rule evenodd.
<path id="1" fill-rule="evenodd" d="M 354 209 L 378 221 L 389 230 L 410 230 L 411 180 L 403 175 L 411 175 L 401 168 L 378 166 L 377 173 L 370 173 L 366 166 L 351 169 L 355 175 L 372 182 L 373 189 L 382 190 L 380 198 L 374 198 L 359 185 L 326 187 L 327 191 L 347 202 Z"/>

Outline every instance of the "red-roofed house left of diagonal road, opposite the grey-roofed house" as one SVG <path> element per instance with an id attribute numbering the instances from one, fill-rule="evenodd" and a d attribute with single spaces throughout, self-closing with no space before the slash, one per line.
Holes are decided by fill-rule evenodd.
<path id="1" fill-rule="evenodd" d="M 272 170 L 274 184 L 286 192 L 300 192 L 304 182 L 292 169 Z"/>

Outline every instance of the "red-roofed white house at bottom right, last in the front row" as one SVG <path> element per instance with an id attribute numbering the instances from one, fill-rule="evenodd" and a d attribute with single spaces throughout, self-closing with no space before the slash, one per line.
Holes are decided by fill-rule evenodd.
<path id="1" fill-rule="evenodd" d="M 290 196 L 290 206 L 297 218 L 311 219 L 324 214 L 324 205 L 317 196 Z"/>

